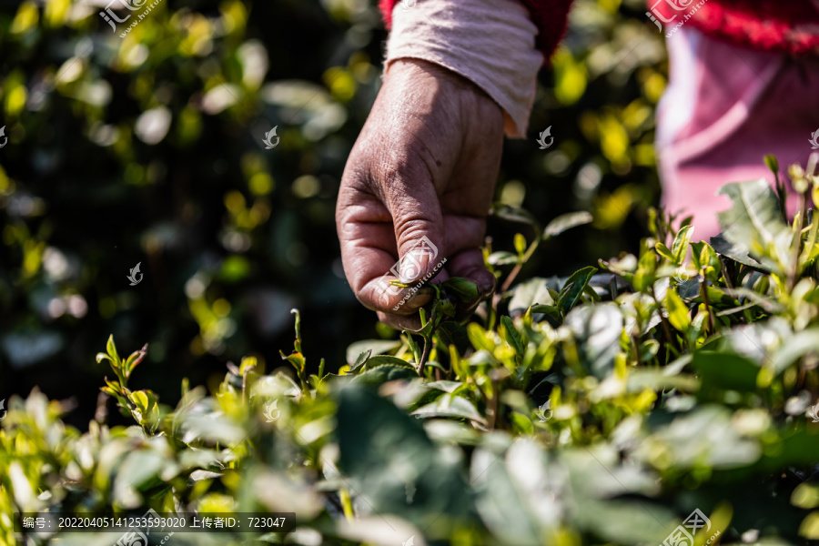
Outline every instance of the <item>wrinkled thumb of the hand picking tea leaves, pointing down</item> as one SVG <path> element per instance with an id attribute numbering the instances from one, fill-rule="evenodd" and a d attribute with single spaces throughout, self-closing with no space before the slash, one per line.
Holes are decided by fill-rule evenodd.
<path id="1" fill-rule="evenodd" d="M 443 259 L 443 215 L 430 180 L 393 187 L 390 213 L 395 226 L 399 263 L 396 277 L 410 284 L 426 277 Z"/>

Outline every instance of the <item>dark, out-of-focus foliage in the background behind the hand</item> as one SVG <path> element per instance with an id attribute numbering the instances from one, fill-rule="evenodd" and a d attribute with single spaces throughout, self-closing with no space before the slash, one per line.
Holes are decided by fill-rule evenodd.
<path id="1" fill-rule="evenodd" d="M 379 89 L 374 2 L 161 0 L 122 38 L 141 12 L 113 10 L 135 16 L 112 31 L 105 6 L 0 13 L 0 398 L 39 385 L 76 399 L 85 424 L 109 371 L 93 355 L 112 332 L 150 344 L 140 379 L 167 403 L 182 377 L 215 388 L 243 355 L 278 363 L 293 307 L 329 371 L 357 339 L 397 338 L 353 297 L 334 225 Z M 531 136 L 506 142 L 497 199 L 542 223 L 572 210 L 595 222 L 551 240 L 524 276 L 636 251 L 660 193 L 667 66 L 642 0 L 578 0 L 552 67 Z M 514 226 L 490 218 L 488 235 L 512 249 Z"/>

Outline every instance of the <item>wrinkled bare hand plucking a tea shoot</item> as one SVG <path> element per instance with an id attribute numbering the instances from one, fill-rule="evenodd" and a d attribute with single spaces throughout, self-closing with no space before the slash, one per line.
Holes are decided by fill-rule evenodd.
<path id="1" fill-rule="evenodd" d="M 492 292 L 495 278 L 479 247 L 502 141 L 501 107 L 478 86 L 425 61 L 390 66 L 349 155 L 336 207 L 349 285 L 384 323 L 420 329 L 418 309 L 431 298 L 420 289 L 400 304 L 410 288 L 389 280 L 414 287 L 433 271 L 430 282 L 467 278 L 480 297 L 460 303 L 461 312 Z"/>

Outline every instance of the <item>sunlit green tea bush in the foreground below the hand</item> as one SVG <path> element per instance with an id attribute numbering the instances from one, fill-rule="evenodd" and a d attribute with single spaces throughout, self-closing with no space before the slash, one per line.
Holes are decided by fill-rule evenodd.
<path id="1" fill-rule="evenodd" d="M 721 236 L 653 213 L 652 237 L 569 278 L 517 281 L 547 238 L 486 250 L 501 289 L 466 324 L 462 279 L 434 288 L 424 329 L 348 350 L 339 374 L 308 373 L 318 348 L 278 369 L 229 364 L 210 394 L 185 381 L 169 408 L 133 389 L 144 348 L 106 352 L 114 379 L 86 432 L 36 390 L 0 432 L 0 541 L 106 544 L 12 528 L 15 511 L 291 511 L 289 533 L 177 533 L 175 544 L 658 544 L 699 510 L 694 543 L 819 538 L 817 156 L 782 185 L 733 183 Z M 773 158 L 769 164 L 778 170 Z M 106 425 L 106 399 L 136 425 Z M 706 525 L 707 523 L 707 525 Z M 694 528 L 696 531 L 696 528 Z M 677 535 L 673 533 L 677 532 Z M 665 543 L 675 542 L 672 539 Z"/>

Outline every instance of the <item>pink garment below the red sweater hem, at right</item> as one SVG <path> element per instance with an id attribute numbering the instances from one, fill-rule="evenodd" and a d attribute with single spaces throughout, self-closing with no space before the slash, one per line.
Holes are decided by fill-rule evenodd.
<path id="1" fill-rule="evenodd" d="M 763 157 L 804 167 L 819 128 L 819 59 L 728 45 L 688 25 L 667 40 L 671 75 L 657 111 L 662 204 L 694 214 L 694 239 L 720 231 L 719 187 L 773 174 Z M 790 202 L 794 209 L 795 199 Z"/>

